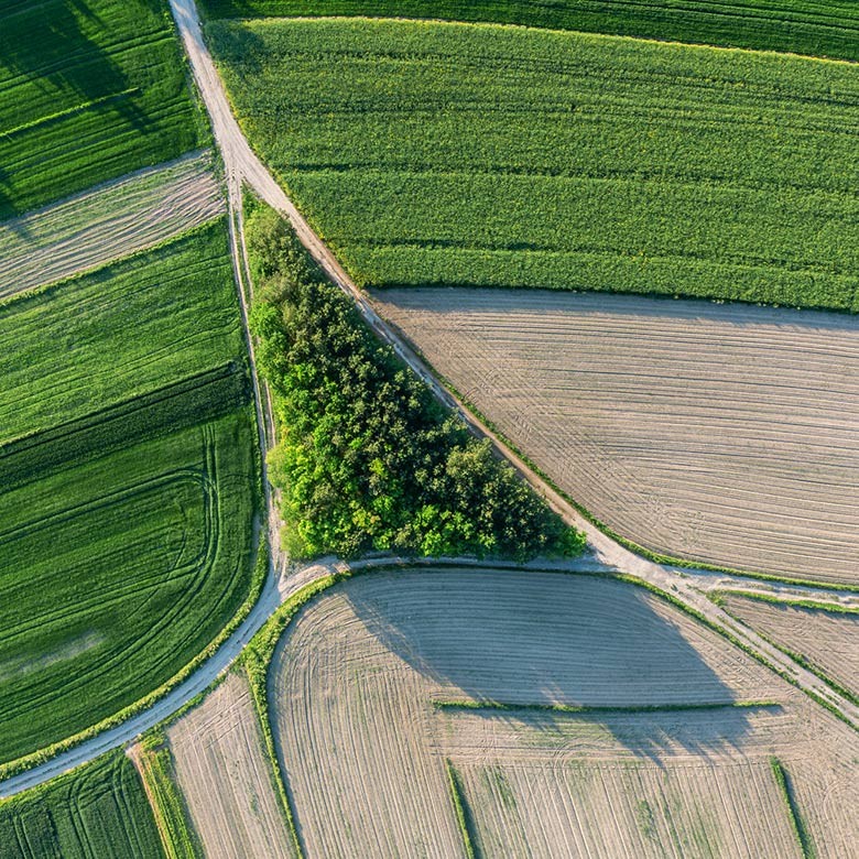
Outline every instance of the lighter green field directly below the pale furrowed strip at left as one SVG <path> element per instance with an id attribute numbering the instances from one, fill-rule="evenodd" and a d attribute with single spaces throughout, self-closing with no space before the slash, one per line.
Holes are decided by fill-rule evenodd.
<path id="1" fill-rule="evenodd" d="M 0 304 L 0 444 L 243 355 L 222 219 Z"/>

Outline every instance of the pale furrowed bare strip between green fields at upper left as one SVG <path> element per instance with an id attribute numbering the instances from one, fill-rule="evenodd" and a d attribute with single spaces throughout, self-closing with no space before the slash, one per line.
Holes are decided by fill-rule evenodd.
<path id="1" fill-rule="evenodd" d="M 225 208 L 203 152 L 0 224 L 0 301 L 151 248 Z"/>

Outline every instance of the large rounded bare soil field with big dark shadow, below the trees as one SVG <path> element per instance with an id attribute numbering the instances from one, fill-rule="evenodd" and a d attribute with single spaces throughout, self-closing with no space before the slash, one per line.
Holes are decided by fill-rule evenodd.
<path id="1" fill-rule="evenodd" d="M 463 855 L 448 761 L 487 857 L 802 856 L 773 755 L 818 856 L 859 838 L 856 736 L 623 583 L 368 574 L 302 610 L 270 683 L 308 856 Z"/>

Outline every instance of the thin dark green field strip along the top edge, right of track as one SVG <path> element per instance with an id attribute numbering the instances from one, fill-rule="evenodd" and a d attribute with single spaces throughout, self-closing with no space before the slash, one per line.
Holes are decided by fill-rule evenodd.
<path id="1" fill-rule="evenodd" d="M 859 59 L 853 0 L 202 0 L 213 18 L 373 15 L 494 21 Z"/>

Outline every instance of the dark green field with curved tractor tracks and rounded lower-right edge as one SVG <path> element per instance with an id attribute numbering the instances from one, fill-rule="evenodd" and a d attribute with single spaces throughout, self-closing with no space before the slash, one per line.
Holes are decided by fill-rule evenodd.
<path id="1" fill-rule="evenodd" d="M 0 494 L 0 762 L 156 688 L 235 615 L 253 438 L 233 411 Z"/>

